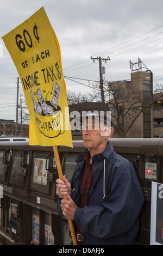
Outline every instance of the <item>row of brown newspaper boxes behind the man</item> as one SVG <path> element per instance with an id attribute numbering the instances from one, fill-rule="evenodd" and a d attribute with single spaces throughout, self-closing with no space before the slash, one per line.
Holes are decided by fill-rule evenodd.
<path id="1" fill-rule="evenodd" d="M 152 181 L 163 183 L 163 139 L 110 139 L 116 153 L 134 166 L 145 203 L 135 245 L 149 245 Z M 62 173 L 70 180 L 83 141 L 59 146 Z M 52 147 L 0 144 L 0 240 L 14 245 L 70 245 L 68 221 L 58 216 Z"/>

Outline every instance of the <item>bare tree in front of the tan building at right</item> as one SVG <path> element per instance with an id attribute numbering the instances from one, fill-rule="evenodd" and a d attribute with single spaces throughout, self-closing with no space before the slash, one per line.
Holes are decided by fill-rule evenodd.
<path id="1" fill-rule="evenodd" d="M 108 103 L 109 111 L 111 111 L 115 132 L 121 138 L 130 137 L 136 131 L 138 132 L 139 127 L 135 126 L 136 121 L 144 112 L 151 111 L 163 92 L 161 84 L 155 84 L 154 96 L 151 91 L 142 90 L 139 92 L 137 89 L 131 91 L 130 86 L 127 87 L 126 85 L 127 81 L 104 81 L 105 103 Z M 96 83 L 92 86 L 95 88 L 92 98 L 101 102 L 99 84 Z"/>

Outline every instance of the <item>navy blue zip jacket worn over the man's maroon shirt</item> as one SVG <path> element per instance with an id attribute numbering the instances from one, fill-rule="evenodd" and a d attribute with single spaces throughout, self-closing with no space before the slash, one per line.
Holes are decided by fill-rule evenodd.
<path id="1" fill-rule="evenodd" d="M 77 168 L 70 180 L 71 197 L 80 205 L 80 185 L 84 157 L 76 160 Z M 103 153 L 92 157 L 93 185 L 89 204 L 78 207 L 74 228 L 80 223 L 83 245 L 132 245 L 139 229 L 139 213 L 144 197 L 133 164 L 116 154 L 109 142 Z M 58 213 L 62 216 L 58 199 Z"/>

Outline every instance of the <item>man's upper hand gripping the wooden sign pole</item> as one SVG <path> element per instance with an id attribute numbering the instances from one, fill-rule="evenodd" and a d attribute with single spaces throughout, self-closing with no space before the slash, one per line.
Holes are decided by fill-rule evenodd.
<path id="1" fill-rule="evenodd" d="M 71 194 L 71 184 L 70 182 L 66 179 L 66 176 L 63 175 L 63 180 L 57 179 L 56 180 L 56 194 L 64 198 L 65 194 Z"/>

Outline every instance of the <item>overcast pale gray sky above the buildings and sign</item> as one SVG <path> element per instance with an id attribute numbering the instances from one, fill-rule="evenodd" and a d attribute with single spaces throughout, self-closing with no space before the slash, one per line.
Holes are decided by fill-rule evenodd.
<path id="1" fill-rule="evenodd" d="M 163 83 L 162 0 L 1 0 L 0 3 L 0 119 L 16 119 L 18 76 L 2 36 L 42 6 L 59 41 L 64 76 L 99 80 L 98 62 L 93 63 L 90 57 L 109 56 L 111 60 L 102 63 L 103 78 L 126 80 L 130 78 L 129 60 L 137 62 L 140 57 L 152 70 L 154 83 Z M 67 89 L 91 92 L 77 82 L 66 78 L 65 82 Z M 23 95 L 21 87 L 20 94 Z"/>

